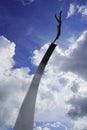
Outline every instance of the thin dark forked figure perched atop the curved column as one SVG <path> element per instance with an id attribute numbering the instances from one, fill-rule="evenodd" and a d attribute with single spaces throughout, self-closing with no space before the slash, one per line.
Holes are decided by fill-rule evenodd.
<path id="1" fill-rule="evenodd" d="M 61 23 L 62 23 L 62 20 L 61 20 L 61 15 L 62 15 L 62 11 L 60 11 L 59 13 L 59 18 L 57 17 L 57 15 L 55 14 L 55 18 L 58 22 L 58 25 L 57 25 L 57 35 L 56 35 L 56 38 L 55 40 L 53 41 L 54 43 L 56 42 L 56 40 L 59 38 L 60 34 L 61 34 Z"/>

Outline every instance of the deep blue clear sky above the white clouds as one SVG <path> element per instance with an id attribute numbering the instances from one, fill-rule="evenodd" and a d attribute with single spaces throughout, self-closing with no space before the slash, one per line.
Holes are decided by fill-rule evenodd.
<path id="1" fill-rule="evenodd" d="M 23 5 L 21 0 L 1 0 L 0 35 L 4 35 L 17 45 L 15 67 L 29 66 L 27 57 L 31 56 L 32 51 L 54 39 L 57 24 L 54 14 L 58 14 L 61 9 L 63 10 L 61 40 L 73 33 L 79 35 L 85 29 L 86 23 L 79 20 L 81 16 L 75 15 L 66 19 L 69 4 L 85 5 L 85 1 L 83 3 L 80 1 L 36 0 L 27 3 L 24 0 Z"/>

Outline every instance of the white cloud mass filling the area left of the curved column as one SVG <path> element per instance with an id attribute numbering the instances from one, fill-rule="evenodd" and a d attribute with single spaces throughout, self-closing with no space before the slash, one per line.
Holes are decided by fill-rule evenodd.
<path id="1" fill-rule="evenodd" d="M 0 37 L 0 124 L 13 126 L 31 76 L 28 68 L 12 69 L 15 43 Z M 0 125 L 0 129 L 5 129 Z"/>

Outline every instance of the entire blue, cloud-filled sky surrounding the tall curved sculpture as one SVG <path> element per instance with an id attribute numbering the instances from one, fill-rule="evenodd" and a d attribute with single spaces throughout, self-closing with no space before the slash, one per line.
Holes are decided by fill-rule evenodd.
<path id="1" fill-rule="evenodd" d="M 0 130 L 13 130 L 36 69 L 42 76 L 34 130 L 87 130 L 87 0 L 0 0 Z"/>

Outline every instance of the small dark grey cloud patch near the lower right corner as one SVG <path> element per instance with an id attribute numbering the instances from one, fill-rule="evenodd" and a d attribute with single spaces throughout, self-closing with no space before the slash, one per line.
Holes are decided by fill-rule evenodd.
<path id="1" fill-rule="evenodd" d="M 73 96 L 68 103 L 72 106 L 68 111 L 72 119 L 87 116 L 87 97 Z"/>

